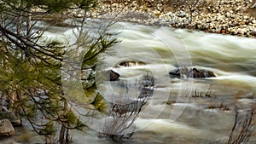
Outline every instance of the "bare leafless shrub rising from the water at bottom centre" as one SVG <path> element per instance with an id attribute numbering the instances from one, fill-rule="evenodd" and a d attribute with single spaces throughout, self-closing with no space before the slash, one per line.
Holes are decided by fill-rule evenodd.
<path id="1" fill-rule="evenodd" d="M 124 138 L 130 138 L 133 135 L 135 126 L 133 126 L 143 107 L 147 104 L 149 97 L 153 95 L 154 78 L 148 78 L 151 83 L 143 83 L 139 86 L 140 95 L 135 99 L 134 95 L 126 95 L 120 98 L 114 97 L 110 103 L 109 118 L 105 120 L 102 136 L 110 137 L 113 141 L 122 141 Z M 144 79 L 144 80 L 148 80 Z M 131 89 L 131 84 L 126 85 L 126 89 Z"/>

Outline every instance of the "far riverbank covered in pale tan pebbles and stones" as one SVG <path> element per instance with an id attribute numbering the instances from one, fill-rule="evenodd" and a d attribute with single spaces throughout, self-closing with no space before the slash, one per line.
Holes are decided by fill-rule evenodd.
<path id="1" fill-rule="evenodd" d="M 173 3 L 172 0 L 102 0 L 101 7 L 90 16 L 256 37 L 255 0 L 206 0 L 201 6 L 187 3 L 180 7 Z"/>

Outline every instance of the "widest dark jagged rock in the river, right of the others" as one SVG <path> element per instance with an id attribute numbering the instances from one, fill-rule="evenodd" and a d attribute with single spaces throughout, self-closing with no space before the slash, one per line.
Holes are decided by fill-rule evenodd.
<path id="1" fill-rule="evenodd" d="M 171 78 L 212 78 L 216 77 L 214 72 L 208 70 L 198 70 L 187 67 L 177 68 L 169 72 Z"/>

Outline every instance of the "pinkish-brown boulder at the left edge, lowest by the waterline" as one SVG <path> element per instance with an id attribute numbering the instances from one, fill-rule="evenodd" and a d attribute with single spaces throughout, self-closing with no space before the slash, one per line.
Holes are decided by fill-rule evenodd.
<path id="1" fill-rule="evenodd" d="M 9 119 L 0 120 L 0 136 L 15 135 L 15 128 L 10 123 Z"/>

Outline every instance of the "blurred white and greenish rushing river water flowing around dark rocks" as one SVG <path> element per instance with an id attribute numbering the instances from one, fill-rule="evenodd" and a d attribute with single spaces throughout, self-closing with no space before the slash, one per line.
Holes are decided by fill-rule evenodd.
<path id="1" fill-rule="evenodd" d="M 70 31 L 65 30 L 65 33 Z M 61 27 L 56 27 L 49 35 L 61 31 Z M 255 38 L 131 23 L 117 23 L 113 32 L 119 32 L 117 37 L 121 42 L 112 48 L 112 55 L 104 55 L 104 68 L 118 72 L 120 80 L 137 78 L 145 72 L 152 73 L 155 80 L 154 95 L 135 122 L 137 131 L 125 143 L 225 143 L 228 140 L 234 124 L 235 103 L 248 107 L 256 88 Z M 119 66 L 122 61 L 137 61 L 137 64 Z M 168 72 L 177 66 L 206 69 L 217 77 L 170 78 Z M 173 103 L 167 105 L 167 101 Z M 16 136 L 3 143 L 19 140 Z M 36 140 L 27 143 L 42 143 Z M 89 130 L 86 134 L 73 131 L 73 143 L 113 141 L 98 138 L 96 131 Z"/>

